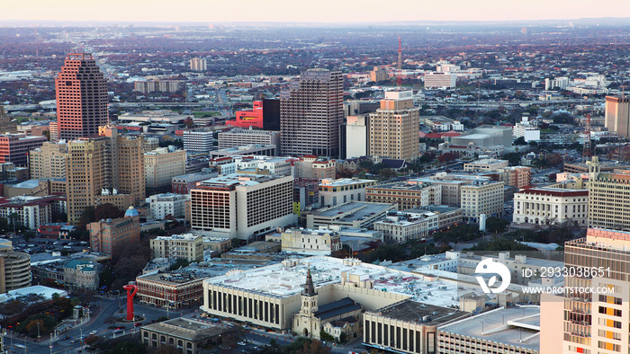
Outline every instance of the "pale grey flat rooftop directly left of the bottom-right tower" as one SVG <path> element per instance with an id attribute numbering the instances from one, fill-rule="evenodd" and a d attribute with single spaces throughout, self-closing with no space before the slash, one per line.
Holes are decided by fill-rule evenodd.
<path id="1" fill-rule="evenodd" d="M 438 331 L 539 350 L 540 306 L 501 307 L 443 325 Z"/>

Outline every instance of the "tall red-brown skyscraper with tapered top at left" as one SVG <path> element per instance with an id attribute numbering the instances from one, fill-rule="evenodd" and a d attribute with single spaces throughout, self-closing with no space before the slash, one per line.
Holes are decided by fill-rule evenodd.
<path id="1" fill-rule="evenodd" d="M 60 139 L 96 136 L 98 127 L 109 121 L 107 80 L 92 54 L 68 54 L 55 79 L 55 90 Z"/>

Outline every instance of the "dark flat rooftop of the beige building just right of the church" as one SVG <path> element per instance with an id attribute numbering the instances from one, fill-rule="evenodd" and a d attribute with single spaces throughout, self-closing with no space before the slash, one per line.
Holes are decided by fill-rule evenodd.
<path id="1" fill-rule="evenodd" d="M 453 308 L 427 305 L 409 300 L 372 312 L 379 313 L 383 317 L 392 318 L 393 320 L 422 323 L 430 326 L 449 323 L 470 315 Z"/>

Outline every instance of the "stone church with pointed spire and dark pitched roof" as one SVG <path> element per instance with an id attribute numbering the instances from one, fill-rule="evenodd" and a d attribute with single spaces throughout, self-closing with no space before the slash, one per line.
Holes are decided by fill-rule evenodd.
<path id="1" fill-rule="evenodd" d="M 347 338 L 359 333 L 361 322 L 358 319 L 363 313 L 363 307 L 355 300 L 347 296 L 321 306 L 318 300 L 309 269 L 302 291 L 302 307 L 299 313 L 293 315 L 294 333 L 317 340 L 320 340 L 321 331 L 329 333 L 336 339 L 339 339 L 341 332 L 345 332 Z"/>

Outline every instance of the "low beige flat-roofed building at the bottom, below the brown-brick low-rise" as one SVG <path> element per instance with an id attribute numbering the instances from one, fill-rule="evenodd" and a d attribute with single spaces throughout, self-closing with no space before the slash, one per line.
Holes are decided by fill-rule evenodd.
<path id="1" fill-rule="evenodd" d="M 148 348 L 169 346 L 178 353 L 197 354 L 206 352 L 206 346 L 221 342 L 222 336 L 231 330 L 207 322 L 179 317 L 140 328 L 140 337 Z"/>

